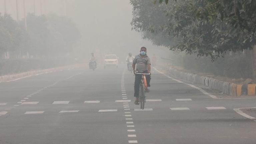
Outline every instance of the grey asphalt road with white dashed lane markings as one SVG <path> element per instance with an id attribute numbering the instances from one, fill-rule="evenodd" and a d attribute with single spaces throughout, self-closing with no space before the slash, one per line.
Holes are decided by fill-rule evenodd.
<path id="1" fill-rule="evenodd" d="M 152 71 L 144 111 L 122 66 L 1 82 L 0 144 L 256 143 L 256 122 L 234 110 L 256 99 L 213 99 Z"/>

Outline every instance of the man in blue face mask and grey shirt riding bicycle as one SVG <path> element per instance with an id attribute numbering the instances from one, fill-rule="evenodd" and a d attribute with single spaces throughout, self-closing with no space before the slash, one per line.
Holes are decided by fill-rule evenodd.
<path id="1" fill-rule="evenodd" d="M 140 54 L 136 55 L 132 68 L 133 72 L 135 73 L 138 71 L 138 73 L 150 73 L 151 70 L 151 63 L 150 63 L 150 58 L 147 56 L 147 48 L 141 47 L 140 48 Z M 136 64 L 136 69 L 135 69 L 135 64 Z M 147 80 L 147 86 L 150 87 L 150 75 L 146 75 L 146 80 Z M 141 81 L 141 75 L 135 75 L 135 82 L 134 82 L 134 97 L 136 97 L 136 100 L 134 104 L 138 105 L 139 104 L 139 90 L 140 90 L 140 81 Z M 149 89 L 145 89 L 145 92 L 149 92 Z"/>

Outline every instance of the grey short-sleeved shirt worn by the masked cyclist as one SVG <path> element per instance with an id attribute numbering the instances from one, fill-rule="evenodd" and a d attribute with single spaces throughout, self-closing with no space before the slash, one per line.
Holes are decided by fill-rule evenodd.
<path id="1" fill-rule="evenodd" d="M 145 55 L 143 58 L 141 57 L 141 55 L 136 55 L 134 60 L 133 60 L 133 63 L 136 64 L 136 70 L 139 72 L 139 73 L 143 73 L 144 71 L 147 71 L 148 70 L 148 64 L 151 64 L 150 63 L 150 58 Z"/>

